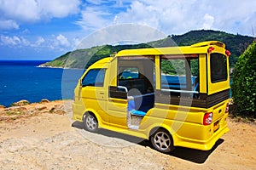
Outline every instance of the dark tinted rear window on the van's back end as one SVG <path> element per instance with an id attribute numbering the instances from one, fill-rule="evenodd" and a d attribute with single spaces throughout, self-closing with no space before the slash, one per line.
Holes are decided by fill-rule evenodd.
<path id="1" fill-rule="evenodd" d="M 223 82 L 228 78 L 227 58 L 224 54 L 211 54 L 211 82 Z"/>

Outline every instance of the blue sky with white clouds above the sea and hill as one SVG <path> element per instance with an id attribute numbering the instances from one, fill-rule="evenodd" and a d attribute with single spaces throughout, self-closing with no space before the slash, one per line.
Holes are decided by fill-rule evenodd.
<path id="1" fill-rule="evenodd" d="M 125 23 L 150 26 L 166 35 L 212 29 L 256 36 L 256 3 L 0 0 L 0 59 L 55 59 L 76 48 L 84 37 Z"/>

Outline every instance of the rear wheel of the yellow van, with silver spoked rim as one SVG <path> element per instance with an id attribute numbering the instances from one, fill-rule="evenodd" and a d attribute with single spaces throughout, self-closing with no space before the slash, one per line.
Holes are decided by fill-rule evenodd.
<path id="1" fill-rule="evenodd" d="M 173 150 L 172 136 L 164 129 L 156 130 L 150 136 L 150 142 L 155 150 L 162 153 L 170 153 Z"/>

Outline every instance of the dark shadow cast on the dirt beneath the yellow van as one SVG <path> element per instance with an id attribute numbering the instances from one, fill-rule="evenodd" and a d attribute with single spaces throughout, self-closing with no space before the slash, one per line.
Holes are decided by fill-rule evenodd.
<path id="1" fill-rule="evenodd" d="M 84 123 L 73 122 L 72 127 L 84 129 Z M 149 146 L 150 148 L 152 148 L 150 142 L 146 139 L 140 139 L 140 138 L 126 135 L 123 133 L 112 132 L 106 129 L 100 129 L 97 133 L 104 136 L 111 137 L 111 138 L 124 139 L 134 144 L 140 144 L 142 146 L 145 146 L 145 147 Z M 192 161 L 192 162 L 201 164 L 207 161 L 207 158 L 212 154 L 212 152 L 216 150 L 216 148 L 218 148 L 218 145 L 222 144 L 223 142 L 224 142 L 224 139 L 218 139 L 216 144 L 214 144 L 214 146 L 212 147 L 212 150 L 194 150 L 194 149 L 183 148 L 183 147 L 175 147 L 175 149 L 172 150 L 172 152 L 168 155 L 174 156 L 186 161 Z"/>

